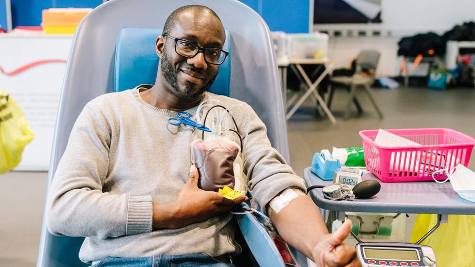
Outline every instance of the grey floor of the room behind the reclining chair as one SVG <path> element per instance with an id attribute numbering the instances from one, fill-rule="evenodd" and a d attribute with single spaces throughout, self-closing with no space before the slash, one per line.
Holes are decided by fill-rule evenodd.
<path id="1" fill-rule="evenodd" d="M 336 125 L 317 116 L 310 101 L 297 110 L 287 126 L 291 165 L 297 174 L 302 175 L 313 153 L 321 149 L 361 146 L 358 131 L 363 129 L 446 127 L 475 136 L 475 89 L 374 89 L 374 94 L 384 119 L 378 118 L 363 95 L 360 101 L 365 113 L 342 120 L 346 100 L 343 91 L 334 97 Z M 472 157 L 471 169 L 475 169 L 474 162 Z M 0 175 L 0 266 L 36 265 L 46 179 L 47 173 Z M 410 228 L 410 220 L 407 224 Z"/>

